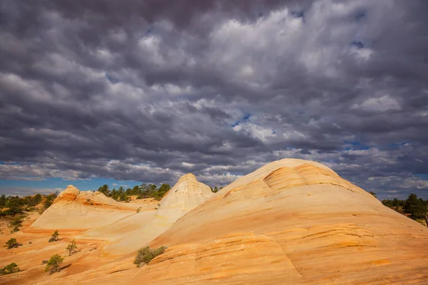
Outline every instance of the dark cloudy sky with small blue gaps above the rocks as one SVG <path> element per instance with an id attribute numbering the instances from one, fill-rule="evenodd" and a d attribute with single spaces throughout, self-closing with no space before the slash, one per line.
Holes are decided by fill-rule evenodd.
<path id="1" fill-rule="evenodd" d="M 3 0 L 0 194 L 282 158 L 428 199 L 428 1 Z"/>

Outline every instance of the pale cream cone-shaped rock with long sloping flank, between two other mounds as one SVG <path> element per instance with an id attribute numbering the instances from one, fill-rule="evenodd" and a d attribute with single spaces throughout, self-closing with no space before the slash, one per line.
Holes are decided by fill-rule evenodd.
<path id="1" fill-rule="evenodd" d="M 163 197 L 153 218 L 138 231 L 127 234 L 119 242 L 106 246 L 104 250 L 108 254 L 119 255 L 140 249 L 211 196 L 213 192 L 210 187 L 198 182 L 195 175 L 183 175 Z"/>

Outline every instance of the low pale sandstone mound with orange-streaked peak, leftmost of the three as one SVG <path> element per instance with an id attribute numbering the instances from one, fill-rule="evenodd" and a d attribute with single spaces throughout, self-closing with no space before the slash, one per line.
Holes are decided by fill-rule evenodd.
<path id="1" fill-rule="evenodd" d="M 51 207 L 36 219 L 29 231 L 100 227 L 133 214 L 134 208 L 131 204 L 108 198 L 101 192 L 79 191 L 69 185 L 56 197 Z"/>

